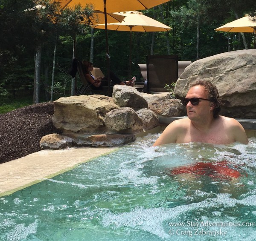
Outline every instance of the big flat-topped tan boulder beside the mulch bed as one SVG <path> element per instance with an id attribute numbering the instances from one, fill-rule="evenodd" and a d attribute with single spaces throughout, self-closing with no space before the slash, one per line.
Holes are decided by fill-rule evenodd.
<path id="1" fill-rule="evenodd" d="M 52 123 L 65 132 L 97 133 L 105 129 L 105 115 L 117 109 L 115 103 L 87 95 L 59 98 L 54 101 Z"/>

